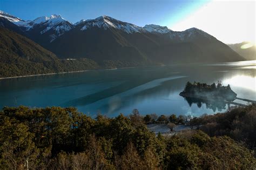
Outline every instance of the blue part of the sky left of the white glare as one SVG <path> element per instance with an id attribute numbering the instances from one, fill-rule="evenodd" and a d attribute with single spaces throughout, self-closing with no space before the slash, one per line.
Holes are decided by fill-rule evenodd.
<path id="1" fill-rule="evenodd" d="M 60 14 L 70 22 L 107 15 L 139 26 L 172 26 L 208 1 L 198 0 L 0 0 L 0 10 L 24 20 Z"/>

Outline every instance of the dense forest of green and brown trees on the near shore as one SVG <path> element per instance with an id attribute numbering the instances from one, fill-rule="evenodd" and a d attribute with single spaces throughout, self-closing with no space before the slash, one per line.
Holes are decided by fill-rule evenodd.
<path id="1" fill-rule="evenodd" d="M 146 123 L 183 124 L 184 117 L 98 115 L 76 108 L 4 107 L 0 112 L 0 169 L 253 169 L 256 106 L 191 119 L 173 136 Z"/>

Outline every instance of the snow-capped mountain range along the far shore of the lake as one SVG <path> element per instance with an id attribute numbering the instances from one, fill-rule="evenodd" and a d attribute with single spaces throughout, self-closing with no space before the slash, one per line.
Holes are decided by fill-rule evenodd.
<path id="1" fill-rule="evenodd" d="M 2 28 L 0 42 L 5 44 L 6 40 L 12 39 L 9 46 L 0 46 L 0 50 L 9 49 L 9 53 L 13 53 L 11 50 L 16 49 L 15 55 L 8 56 L 9 53 L 4 53 L 5 56 L 0 58 L 0 62 L 5 63 L 5 67 L 8 67 L 8 64 L 14 65 L 14 60 L 17 58 L 22 58 L 25 63 L 41 62 L 42 64 L 42 61 L 49 63 L 50 60 L 57 62 L 58 67 L 50 70 L 48 68 L 47 73 L 63 70 L 245 60 L 228 45 L 197 28 L 172 31 L 166 26 L 154 24 L 140 27 L 109 16 L 82 19 L 73 24 L 60 15 L 24 21 L 0 11 L 0 27 Z M 9 35 L 15 38 L 6 37 Z M 20 45 L 17 46 L 17 42 Z M 28 42 L 30 45 L 27 45 Z M 40 55 L 38 49 L 41 50 Z M 10 59 L 6 60 L 6 58 Z M 45 58 L 48 58 L 47 61 Z M 60 69 L 64 65 L 59 63 L 63 61 L 75 62 L 76 65 L 79 65 L 79 61 L 83 61 L 86 66 L 76 67 L 71 64 L 73 68 L 71 70 Z M 93 66 L 89 66 L 89 63 L 93 63 Z M 17 70 L 18 73 L 14 71 L 8 76 L 35 74 L 33 71 Z M 36 73 L 44 73 L 44 70 L 47 68 Z M 1 76 L 6 77 L 6 73 L 2 72 Z"/>

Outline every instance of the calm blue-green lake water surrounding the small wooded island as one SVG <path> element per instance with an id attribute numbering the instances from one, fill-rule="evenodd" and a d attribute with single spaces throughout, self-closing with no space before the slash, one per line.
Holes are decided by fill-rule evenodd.
<path id="1" fill-rule="evenodd" d="M 180 64 L 97 70 L 0 80 L 0 107 L 73 106 L 91 117 L 140 114 L 198 115 L 224 112 L 232 105 L 201 103 L 179 96 L 187 81 L 230 84 L 240 98 L 256 100 L 256 61 Z M 236 100 L 235 100 L 236 101 Z M 245 101 L 237 102 L 246 104 Z"/>

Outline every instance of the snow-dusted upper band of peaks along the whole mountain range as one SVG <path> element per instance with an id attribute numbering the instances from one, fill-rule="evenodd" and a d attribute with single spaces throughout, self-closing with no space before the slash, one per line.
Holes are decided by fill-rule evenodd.
<path id="1" fill-rule="evenodd" d="M 78 27 L 81 31 L 90 30 L 91 28 L 102 28 L 106 29 L 117 29 L 124 31 L 126 33 L 155 33 L 155 34 L 165 34 L 167 33 L 172 40 L 178 40 L 179 42 L 188 41 L 195 37 L 198 34 L 205 36 L 206 38 L 212 38 L 211 35 L 208 35 L 206 32 L 191 28 L 185 31 L 172 31 L 166 26 L 149 24 L 144 27 L 140 27 L 131 23 L 126 23 L 114 19 L 109 16 L 100 16 L 95 19 L 82 19 L 79 22 L 72 24 L 69 21 L 66 21 L 60 15 L 51 15 L 50 17 L 43 16 L 34 19 L 33 21 L 24 21 L 21 18 L 12 16 L 8 13 L 0 11 L 0 16 L 5 17 L 12 23 L 20 26 L 24 31 L 31 32 L 31 38 L 34 36 L 45 35 L 48 36 L 49 42 L 53 42 L 57 37 L 63 35 L 65 32 L 70 31 L 71 29 Z"/>

